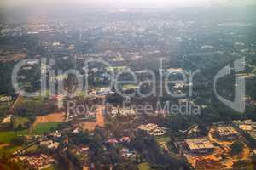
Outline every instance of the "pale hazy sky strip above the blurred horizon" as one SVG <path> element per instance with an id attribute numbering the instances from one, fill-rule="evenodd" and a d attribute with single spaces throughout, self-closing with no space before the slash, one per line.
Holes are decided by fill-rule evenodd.
<path id="1" fill-rule="evenodd" d="M 172 7 L 172 6 L 208 6 L 212 4 L 232 5 L 254 3 L 255 0 L 0 0 L 2 7 L 19 5 L 63 5 L 79 4 L 99 7 Z"/>

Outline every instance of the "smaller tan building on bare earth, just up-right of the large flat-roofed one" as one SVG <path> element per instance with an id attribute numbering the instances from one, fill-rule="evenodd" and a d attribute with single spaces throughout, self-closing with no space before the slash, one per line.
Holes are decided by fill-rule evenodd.
<path id="1" fill-rule="evenodd" d="M 236 139 L 240 133 L 234 127 L 217 127 L 216 134 L 219 139 Z"/>

